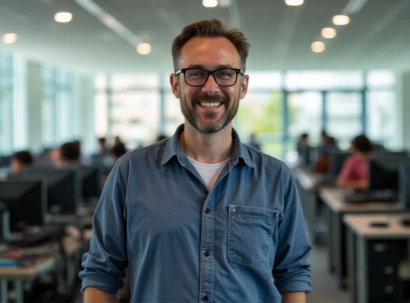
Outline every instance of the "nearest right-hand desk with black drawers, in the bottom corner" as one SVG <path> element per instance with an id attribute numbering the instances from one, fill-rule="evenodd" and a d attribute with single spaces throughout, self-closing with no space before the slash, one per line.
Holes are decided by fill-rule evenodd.
<path id="1" fill-rule="evenodd" d="M 407 302 L 410 282 L 399 277 L 399 266 L 409 258 L 410 227 L 400 224 L 400 215 L 359 215 L 343 217 L 347 232 L 347 269 L 354 303 Z M 388 222 L 372 227 L 371 222 Z"/>

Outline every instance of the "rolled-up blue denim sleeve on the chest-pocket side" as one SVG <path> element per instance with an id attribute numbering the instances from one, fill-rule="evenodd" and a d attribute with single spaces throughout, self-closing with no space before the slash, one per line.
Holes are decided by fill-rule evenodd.
<path id="1" fill-rule="evenodd" d="M 283 219 L 278 224 L 278 248 L 272 271 L 280 293 L 311 292 L 310 252 L 299 195 L 289 172 L 284 185 Z"/>

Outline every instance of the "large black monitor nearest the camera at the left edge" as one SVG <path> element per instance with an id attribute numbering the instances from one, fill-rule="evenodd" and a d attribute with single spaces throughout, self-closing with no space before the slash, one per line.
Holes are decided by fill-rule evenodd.
<path id="1" fill-rule="evenodd" d="M 10 212 L 10 230 L 45 224 L 47 183 L 41 176 L 0 179 L 0 201 Z"/>

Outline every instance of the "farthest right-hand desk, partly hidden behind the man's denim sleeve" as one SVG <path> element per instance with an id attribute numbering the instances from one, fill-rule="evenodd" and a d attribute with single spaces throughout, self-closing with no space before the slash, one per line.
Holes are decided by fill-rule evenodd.
<path id="1" fill-rule="evenodd" d="M 320 229 L 318 228 L 319 189 L 333 188 L 329 183 L 319 183 L 316 175 L 306 168 L 296 168 L 293 171 L 298 187 L 300 203 L 309 231 L 310 241 L 313 244 L 320 243 Z"/>

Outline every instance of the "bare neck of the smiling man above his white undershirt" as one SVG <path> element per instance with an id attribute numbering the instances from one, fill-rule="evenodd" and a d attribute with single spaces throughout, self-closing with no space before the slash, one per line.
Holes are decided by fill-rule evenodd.
<path id="1" fill-rule="evenodd" d="M 231 157 L 234 142 L 232 123 L 214 134 L 203 134 L 185 121 L 185 128 L 179 137 L 182 151 L 189 158 L 205 164 L 216 164 Z"/>

